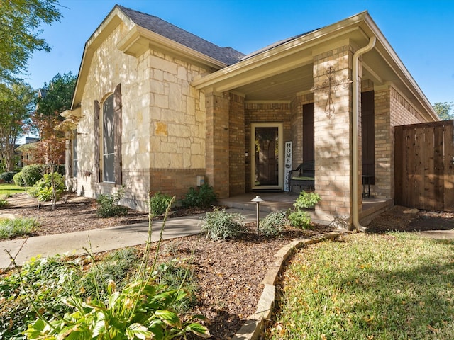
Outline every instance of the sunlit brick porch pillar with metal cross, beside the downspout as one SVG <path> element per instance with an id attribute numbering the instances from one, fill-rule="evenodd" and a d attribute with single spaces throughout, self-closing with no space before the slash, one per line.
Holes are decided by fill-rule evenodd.
<path id="1" fill-rule="evenodd" d="M 325 224 L 333 217 L 351 221 L 352 215 L 352 86 L 331 87 L 331 103 L 325 87 L 330 67 L 334 70 L 334 81 L 352 79 L 352 57 L 350 45 L 314 56 L 314 85 L 319 87 L 314 92 L 315 191 L 321 196 L 314 220 Z M 331 115 L 326 112 L 330 106 L 334 110 Z"/>

